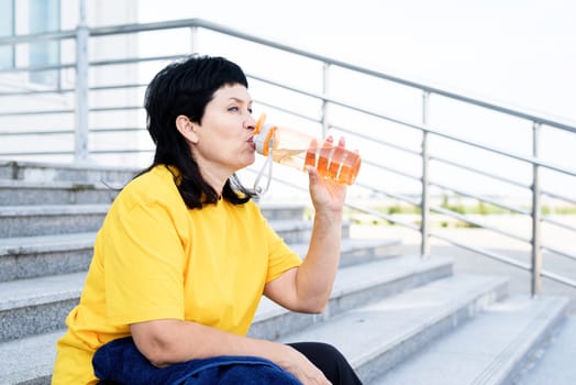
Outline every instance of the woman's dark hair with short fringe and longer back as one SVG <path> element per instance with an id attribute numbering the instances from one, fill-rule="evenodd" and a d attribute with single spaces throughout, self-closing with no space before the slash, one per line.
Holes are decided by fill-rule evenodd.
<path id="1" fill-rule="evenodd" d="M 248 87 L 240 66 L 223 57 L 192 55 L 166 66 L 146 89 L 146 125 L 156 145 L 153 164 L 146 170 L 157 165 L 176 167 L 175 183 L 188 208 L 215 204 L 219 196 L 202 178 L 187 141 L 176 128 L 176 118 L 182 114 L 201 124 L 214 92 L 233 85 Z M 234 205 L 245 204 L 251 197 L 235 174 L 222 190 L 222 198 Z"/>

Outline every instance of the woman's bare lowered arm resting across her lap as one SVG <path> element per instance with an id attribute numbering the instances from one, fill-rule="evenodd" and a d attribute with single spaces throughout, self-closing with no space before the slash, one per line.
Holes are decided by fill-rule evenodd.
<path id="1" fill-rule="evenodd" d="M 304 355 L 281 343 L 173 319 L 133 323 L 130 329 L 139 351 L 157 367 L 218 355 L 251 355 L 276 363 L 302 384 L 329 384 Z"/>

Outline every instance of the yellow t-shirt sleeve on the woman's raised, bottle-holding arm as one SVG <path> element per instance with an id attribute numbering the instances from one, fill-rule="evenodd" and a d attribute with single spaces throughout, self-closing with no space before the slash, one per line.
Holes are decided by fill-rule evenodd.
<path id="1" fill-rule="evenodd" d="M 266 239 L 268 240 L 268 274 L 266 283 L 269 283 L 286 271 L 300 266 L 302 260 L 286 244 L 266 220 L 264 220 L 264 224 Z"/>

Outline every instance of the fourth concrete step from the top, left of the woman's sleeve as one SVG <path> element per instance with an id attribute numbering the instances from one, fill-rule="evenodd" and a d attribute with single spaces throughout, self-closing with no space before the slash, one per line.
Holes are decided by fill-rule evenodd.
<path id="1" fill-rule="evenodd" d="M 96 232 L 0 239 L 0 282 L 86 272 Z"/>

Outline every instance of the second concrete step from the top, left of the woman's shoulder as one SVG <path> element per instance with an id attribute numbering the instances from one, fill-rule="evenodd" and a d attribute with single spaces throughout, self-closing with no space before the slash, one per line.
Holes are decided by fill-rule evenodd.
<path id="1" fill-rule="evenodd" d="M 123 185 L 0 179 L 0 206 L 111 204 Z"/>

